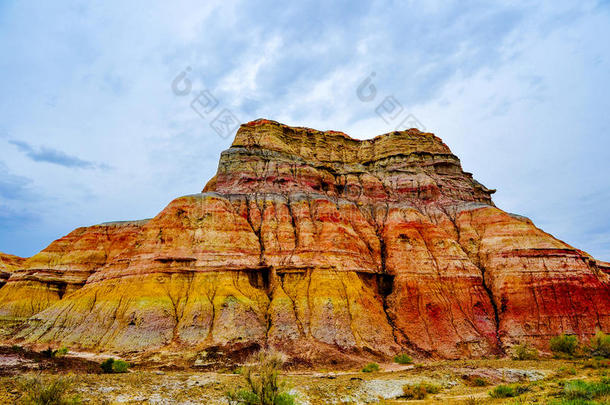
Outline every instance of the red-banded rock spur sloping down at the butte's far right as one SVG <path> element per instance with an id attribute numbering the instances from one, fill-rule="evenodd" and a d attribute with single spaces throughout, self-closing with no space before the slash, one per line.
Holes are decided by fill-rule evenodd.
<path id="1" fill-rule="evenodd" d="M 610 276 L 603 264 L 497 208 L 456 218 L 459 242 L 485 276 L 505 345 L 545 347 L 560 333 L 610 330 Z"/>

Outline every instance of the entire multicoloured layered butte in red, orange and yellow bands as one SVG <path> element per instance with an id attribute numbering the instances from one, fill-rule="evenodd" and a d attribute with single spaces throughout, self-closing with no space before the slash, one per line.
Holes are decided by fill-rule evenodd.
<path id="1" fill-rule="evenodd" d="M 15 337 L 30 343 L 271 345 L 313 362 L 481 356 L 610 331 L 610 266 L 492 193 L 432 134 L 358 141 L 258 120 L 201 194 L 28 259 L 0 289 L 0 313 L 34 315 Z"/>

